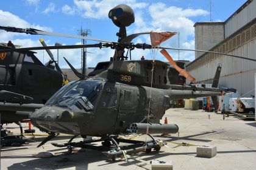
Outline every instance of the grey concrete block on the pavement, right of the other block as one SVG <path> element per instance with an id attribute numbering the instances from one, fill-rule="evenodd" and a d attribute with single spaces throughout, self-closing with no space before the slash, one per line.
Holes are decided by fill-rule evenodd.
<path id="1" fill-rule="evenodd" d="M 212 158 L 217 154 L 216 146 L 197 146 L 196 147 L 196 156 L 203 158 Z"/>

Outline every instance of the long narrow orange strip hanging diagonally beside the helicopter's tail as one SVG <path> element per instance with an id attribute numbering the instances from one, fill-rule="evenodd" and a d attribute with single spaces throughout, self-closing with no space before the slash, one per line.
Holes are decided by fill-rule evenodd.
<path id="1" fill-rule="evenodd" d="M 192 83 L 196 82 L 196 79 L 194 77 L 192 77 L 190 75 L 190 73 L 186 72 L 186 70 L 180 68 L 179 66 L 177 66 L 177 64 L 175 63 L 175 61 L 171 58 L 171 56 L 169 55 L 169 53 L 165 50 L 162 49 L 160 51 L 160 53 L 162 53 L 163 56 L 165 56 L 165 58 L 167 58 L 167 60 L 171 63 L 171 65 L 181 74 L 183 75 L 183 77 L 187 78 L 188 80 L 190 80 Z"/>

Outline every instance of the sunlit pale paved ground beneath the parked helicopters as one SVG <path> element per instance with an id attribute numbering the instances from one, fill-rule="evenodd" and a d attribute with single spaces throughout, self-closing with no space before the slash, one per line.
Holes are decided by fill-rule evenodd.
<path id="1" fill-rule="evenodd" d="M 132 157 L 137 160 L 117 158 L 113 161 L 100 151 L 79 148 L 74 148 L 73 153 L 68 154 L 66 148 L 56 148 L 50 144 L 65 143 L 71 138 L 68 135 L 60 135 L 43 147 L 36 148 L 45 137 L 43 132 L 36 129 L 36 139 L 29 144 L 1 148 L 1 169 L 151 169 L 152 160 L 171 160 L 173 169 L 256 169 L 256 121 L 234 116 L 223 120 L 222 115 L 213 113 L 209 119 L 207 112 L 185 109 L 169 109 L 162 122 L 165 117 L 168 123 L 179 125 L 179 135 L 162 137 L 154 134 L 155 138 L 165 140 L 168 147 L 163 146 L 159 152 L 133 154 Z M 9 130 L 15 134 L 20 132 L 16 124 L 4 127 L 10 127 Z M 27 129 L 28 124 L 24 123 L 23 127 Z M 81 140 L 77 137 L 73 141 Z M 145 140 L 145 135 L 132 140 Z M 101 143 L 95 145 L 100 146 Z M 217 155 L 213 158 L 196 157 L 197 146 L 216 146 Z M 54 156 L 35 157 L 44 151 Z"/>

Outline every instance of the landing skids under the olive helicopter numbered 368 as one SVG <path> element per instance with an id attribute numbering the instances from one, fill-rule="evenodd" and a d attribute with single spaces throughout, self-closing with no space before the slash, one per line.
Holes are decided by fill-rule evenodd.
<path id="1" fill-rule="evenodd" d="M 149 134 L 148 134 L 149 135 Z M 163 141 L 155 140 L 151 135 L 149 137 L 152 138 L 151 141 L 139 141 L 139 140 L 127 140 L 123 138 L 118 138 L 118 136 L 107 136 L 102 137 L 98 140 L 85 140 L 80 142 L 69 142 L 69 143 L 51 143 L 53 146 L 62 148 L 66 147 L 68 149 L 69 154 L 72 153 L 72 147 L 76 148 L 85 148 L 92 149 L 96 151 L 102 151 L 104 155 L 112 158 L 112 160 L 116 160 L 118 157 L 126 157 L 126 154 L 134 154 L 137 152 L 145 151 L 151 152 L 152 149 L 155 151 L 160 151 L 161 147 L 166 143 Z M 102 141 L 102 146 L 94 146 L 91 143 Z M 113 144 L 110 143 L 112 141 Z M 127 145 L 119 146 L 119 143 L 127 143 Z"/>

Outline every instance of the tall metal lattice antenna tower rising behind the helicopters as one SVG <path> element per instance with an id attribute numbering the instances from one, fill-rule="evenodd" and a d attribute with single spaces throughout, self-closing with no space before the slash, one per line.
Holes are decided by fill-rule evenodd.
<path id="1" fill-rule="evenodd" d="M 77 34 L 80 36 L 88 36 L 88 35 L 91 35 L 91 30 L 90 29 L 83 30 L 82 25 L 81 25 L 81 29 L 77 30 Z M 81 42 L 83 45 L 85 45 L 86 39 L 81 39 Z M 86 73 L 86 67 L 87 67 L 87 63 L 86 63 L 87 58 L 86 57 L 87 57 L 87 49 L 83 48 L 83 49 L 81 49 L 81 70 L 84 75 Z"/>

